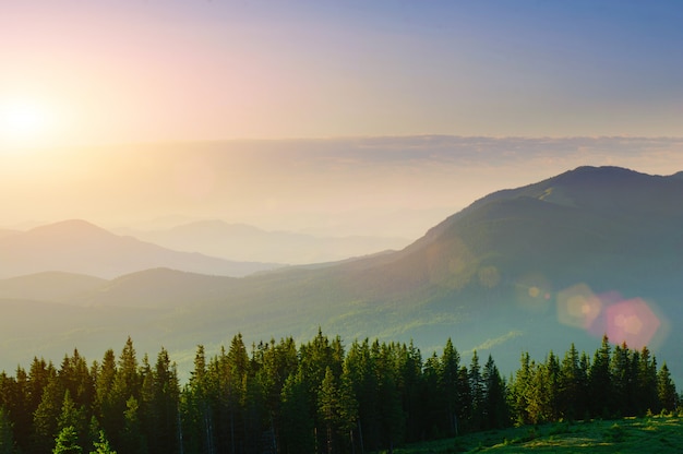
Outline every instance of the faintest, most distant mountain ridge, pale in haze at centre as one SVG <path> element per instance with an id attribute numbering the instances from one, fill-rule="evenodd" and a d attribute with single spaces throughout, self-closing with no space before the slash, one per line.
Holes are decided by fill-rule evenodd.
<path id="1" fill-rule="evenodd" d="M 163 230 L 121 230 L 165 248 L 201 252 L 230 260 L 307 264 L 332 262 L 391 249 L 405 238 L 376 236 L 316 237 L 288 231 L 265 231 L 245 224 L 199 220 Z"/>

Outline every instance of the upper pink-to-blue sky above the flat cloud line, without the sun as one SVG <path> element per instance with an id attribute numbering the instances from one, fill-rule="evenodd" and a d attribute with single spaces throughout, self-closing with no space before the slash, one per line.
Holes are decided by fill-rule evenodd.
<path id="1" fill-rule="evenodd" d="M 681 135 L 682 23 L 676 0 L 3 0 L 0 104 L 86 144 Z"/>

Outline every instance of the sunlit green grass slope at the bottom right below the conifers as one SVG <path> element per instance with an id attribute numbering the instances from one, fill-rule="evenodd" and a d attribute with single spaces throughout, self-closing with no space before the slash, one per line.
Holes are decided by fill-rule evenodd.
<path id="1" fill-rule="evenodd" d="M 525 426 L 408 445 L 395 454 L 671 453 L 683 450 L 683 418 L 648 417 Z"/>

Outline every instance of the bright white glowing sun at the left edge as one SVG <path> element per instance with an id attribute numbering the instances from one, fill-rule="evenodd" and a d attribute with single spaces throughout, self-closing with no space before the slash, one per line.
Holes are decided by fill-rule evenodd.
<path id="1" fill-rule="evenodd" d="M 43 143 L 49 135 L 49 109 L 33 100 L 0 104 L 0 144 L 25 147 Z"/>

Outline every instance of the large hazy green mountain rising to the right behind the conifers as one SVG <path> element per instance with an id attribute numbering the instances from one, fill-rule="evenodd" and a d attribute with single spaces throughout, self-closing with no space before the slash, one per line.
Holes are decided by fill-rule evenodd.
<path id="1" fill-rule="evenodd" d="M 572 342 L 594 350 L 608 333 L 636 348 L 648 343 L 682 378 L 683 331 L 672 328 L 683 323 L 681 201 L 683 174 L 580 167 L 480 199 L 397 252 L 241 278 L 166 266 L 107 280 L 3 279 L 0 345 L 11 355 L 0 367 L 60 358 L 74 346 L 100 355 L 130 334 L 145 351 L 164 345 L 187 370 L 196 344 L 216 348 L 237 332 L 255 342 L 307 339 L 320 326 L 347 342 L 414 339 L 424 355 L 450 336 L 464 357 L 491 353 L 503 371 L 522 351 L 542 356 Z M 17 251 L 37 260 L 41 244 L 52 244 L 43 237 L 23 237 Z M 58 238 L 61 255 L 49 256 L 83 258 L 67 247 L 87 250 L 80 235 Z M 116 256 L 122 244 L 99 253 Z M 12 261 L 26 260 L 14 253 Z M 34 327 L 32 318 L 41 321 Z"/>

